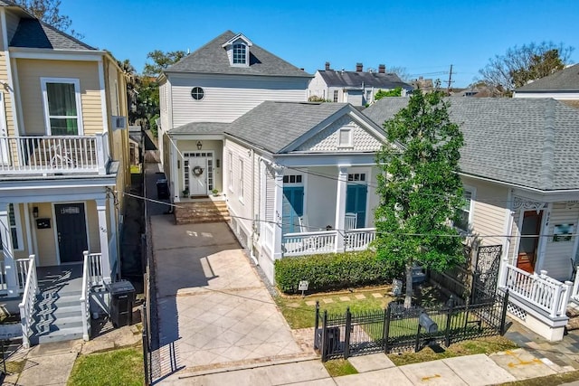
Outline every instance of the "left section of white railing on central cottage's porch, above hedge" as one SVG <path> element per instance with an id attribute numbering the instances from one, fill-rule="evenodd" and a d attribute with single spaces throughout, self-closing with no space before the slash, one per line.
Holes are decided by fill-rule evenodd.
<path id="1" fill-rule="evenodd" d="M 283 235 L 283 256 L 304 256 L 336 250 L 337 231 L 311 231 Z"/>

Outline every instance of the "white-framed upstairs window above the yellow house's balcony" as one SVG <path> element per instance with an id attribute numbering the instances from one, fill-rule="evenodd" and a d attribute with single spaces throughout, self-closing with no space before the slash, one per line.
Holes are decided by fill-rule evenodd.
<path id="1" fill-rule="evenodd" d="M 81 136 L 81 81 L 41 78 L 44 118 L 52 136 Z"/>

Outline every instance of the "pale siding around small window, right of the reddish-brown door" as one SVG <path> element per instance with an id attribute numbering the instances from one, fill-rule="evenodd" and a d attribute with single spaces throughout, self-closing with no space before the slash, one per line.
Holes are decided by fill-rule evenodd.
<path id="1" fill-rule="evenodd" d="M 567 204 L 555 203 L 549 216 L 547 234 L 555 232 L 555 225 L 574 224 L 573 233 L 577 232 L 577 220 L 579 219 L 579 208 L 570 209 Z M 573 257 L 573 247 L 575 238 L 571 240 L 554 241 L 553 237 L 546 238 L 545 257 L 541 269 L 546 269 L 551 278 L 557 280 L 568 280 L 571 276 L 571 258 Z"/>

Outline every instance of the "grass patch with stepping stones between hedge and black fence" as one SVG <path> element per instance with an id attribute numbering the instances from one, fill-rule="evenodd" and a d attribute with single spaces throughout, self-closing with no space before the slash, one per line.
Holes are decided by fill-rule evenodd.
<path id="1" fill-rule="evenodd" d="M 306 302 L 319 301 L 320 311 L 327 310 L 328 314 L 343 314 L 349 306 L 352 313 L 384 309 L 393 300 L 389 296 L 389 287 L 378 287 L 370 289 L 357 289 L 355 292 L 334 292 L 327 294 L 309 295 L 307 297 L 287 297 L 279 296 L 275 298 L 280 307 L 281 314 L 288 321 L 292 329 L 313 327 L 316 319 L 316 306 L 308 306 Z M 380 294 L 383 297 L 374 297 L 373 294 Z M 365 298 L 358 299 L 356 295 L 364 295 Z M 348 301 L 340 299 L 348 297 Z M 330 303 L 324 301 L 331 300 Z"/>

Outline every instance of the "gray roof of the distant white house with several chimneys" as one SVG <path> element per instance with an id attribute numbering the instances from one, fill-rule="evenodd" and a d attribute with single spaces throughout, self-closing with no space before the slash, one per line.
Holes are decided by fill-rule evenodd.
<path id="1" fill-rule="evenodd" d="M 319 75 L 328 87 L 352 87 L 361 88 L 375 87 L 376 89 L 413 89 L 408 83 L 404 83 L 394 73 L 364 72 L 364 71 L 336 71 L 318 70 Z"/>

